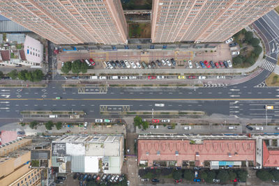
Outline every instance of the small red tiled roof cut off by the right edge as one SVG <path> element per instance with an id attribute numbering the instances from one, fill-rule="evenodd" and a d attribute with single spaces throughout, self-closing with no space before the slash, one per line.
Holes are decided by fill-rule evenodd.
<path id="1" fill-rule="evenodd" d="M 264 141 L 262 143 L 262 166 L 279 166 L 279 150 L 269 150 L 266 146 L 266 143 Z"/>

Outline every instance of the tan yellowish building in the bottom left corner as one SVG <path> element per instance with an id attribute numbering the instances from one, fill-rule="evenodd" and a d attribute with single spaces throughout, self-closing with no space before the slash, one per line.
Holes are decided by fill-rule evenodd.
<path id="1" fill-rule="evenodd" d="M 40 185 L 41 169 L 31 169 L 32 139 L 17 139 L 0 148 L 0 185 Z"/>

